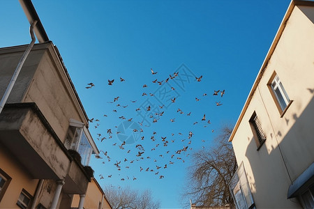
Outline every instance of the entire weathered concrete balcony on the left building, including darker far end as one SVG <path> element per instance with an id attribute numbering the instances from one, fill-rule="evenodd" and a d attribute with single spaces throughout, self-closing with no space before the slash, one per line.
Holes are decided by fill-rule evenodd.
<path id="1" fill-rule="evenodd" d="M 0 114 L 0 146 L 34 179 L 65 179 L 64 192 L 84 194 L 89 183 L 35 103 L 6 104 Z"/>

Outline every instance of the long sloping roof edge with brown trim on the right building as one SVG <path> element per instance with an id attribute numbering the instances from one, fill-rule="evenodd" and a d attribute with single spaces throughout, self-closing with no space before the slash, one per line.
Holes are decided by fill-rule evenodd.
<path id="1" fill-rule="evenodd" d="M 240 125 L 240 123 L 244 117 L 244 114 L 246 113 L 246 109 L 248 109 L 248 105 L 250 104 L 250 102 L 253 98 L 253 95 L 255 93 L 255 90 L 256 90 L 258 84 L 260 83 L 260 79 L 262 79 L 262 75 L 264 74 L 264 70 L 267 68 L 267 64 L 268 64 L 269 60 L 271 59 L 271 56 L 273 55 L 274 50 L 275 50 L 275 48 L 276 48 L 276 46 L 277 46 L 277 44 L 281 38 L 283 30 L 285 29 L 286 22 L 287 22 L 287 20 L 289 20 L 289 17 L 292 13 L 292 10 L 294 9 L 294 6 L 314 6 L 314 1 L 292 0 L 290 2 L 290 5 L 287 8 L 287 11 L 285 13 L 285 16 L 283 17 L 281 25 L 279 26 L 279 29 L 276 33 L 276 36 L 275 36 L 273 42 L 271 43 L 271 47 L 269 48 L 269 51 L 267 52 L 267 55 L 266 55 L 266 57 L 262 63 L 260 71 L 257 74 L 257 77 L 255 79 L 255 82 L 254 82 L 252 88 L 251 88 L 251 91 L 248 94 L 248 98 L 246 99 L 246 102 L 244 103 L 244 107 L 241 110 L 241 113 L 240 113 L 240 116 L 237 120 L 237 123 L 236 123 L 236 125 L 234 125 L 234 129 L 232 130 L 229 141 L 232 141 L 235 133 L 238 130 L 238 127 L 239 127 L 239 125 Z"/>

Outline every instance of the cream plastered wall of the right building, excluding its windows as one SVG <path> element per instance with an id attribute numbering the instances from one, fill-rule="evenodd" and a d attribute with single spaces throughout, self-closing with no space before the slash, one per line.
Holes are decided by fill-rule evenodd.
<path id="1" fill-rule="evenodd" d="M 302 10 L 311 10 L 312 17 Z M 314 160 L 313 13 L 308 6 L 292 11 L 232 141 L 237 162 L 244 162 L 257 208 L 301 207 L 297 199 L 287 199 L 287 189 Z M 283 117 L 267 86 L 274 72 L 293 100 Z M 253 111 L 267 136 L 258 151 L 248 122 Z"/>

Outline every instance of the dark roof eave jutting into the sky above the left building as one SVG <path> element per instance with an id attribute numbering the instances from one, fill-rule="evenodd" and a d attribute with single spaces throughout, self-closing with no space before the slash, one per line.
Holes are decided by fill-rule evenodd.
<path id="1" fill-rule="evenodd" d="M 29 24 L 32 24 L 34 20 L 37 20 L 36 26 L 34 26 L 33 31 L 36 34 L 38 42 L 46 42 L 49 40 L 47 33 L 41 24 L 40 19 L 36 13 L 35 8 L 33 7 L 33 3 L 31 0 L 19 0 L 20 4 L 24 10 L 25 15 L 27 16 L 27 20 L 29 20 Z"/>

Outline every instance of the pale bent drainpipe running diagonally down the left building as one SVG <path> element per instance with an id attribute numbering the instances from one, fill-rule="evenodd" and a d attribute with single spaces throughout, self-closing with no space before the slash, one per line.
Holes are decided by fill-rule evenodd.
<path id="1" fill-rule="evenodd" d="M 15 69 L 15 72 L 13 74 L 13 77 L 10 81 L 10 83 L 8 84 L 8 87 L 6 88 L 6 92 L 4 93 L 2 99 L 1 99 L 1 102 L 0 102 L 0 114 L 1 114 L 1 111 L 4 107 L 4 104 L 6 104 L 6 100 L 8 100 L 8 96 L 10 95 L 11 91 L 12 91 L 12 88 L 15 84 L 15 81 L 17 79 L 17 76 L 19 75 L 21 69 L 22 69 L 22 66 L 24 64 L 24 61 L 27 59 L 27 56 L 29 55 L 29 52 L 31 52 L 31 48 L 33 47 L 33 44 L 35 43 L 36 41 L 36 38 L 33 34 L 33 27 L 36 25 L 37 23 L 37 20 L 34 20 L 33 23 L 31 24 L 31 26 L 29 27 L 29 33 L 31 33 L 31 42 L 29 43 L 29 46 L 27 47 L 26 51 L 24 52 L 22 58 L 20 59 L 20 62 L 18 63 L 16 69 Z"/>

